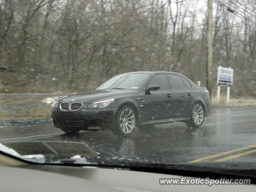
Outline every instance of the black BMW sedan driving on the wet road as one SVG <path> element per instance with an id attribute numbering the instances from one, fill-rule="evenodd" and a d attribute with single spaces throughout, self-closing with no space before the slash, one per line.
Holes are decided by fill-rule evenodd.
<path id="1" fill-rule="evenodd" d="M 206 88 L 174 72 L 116 75 L 90 92 L 60 99 L 52 109 L 54 127 L 76 133 L 97 126 L 128 137 L 136 128 L 184 122 L 199 127 L 210 114 Z"/>

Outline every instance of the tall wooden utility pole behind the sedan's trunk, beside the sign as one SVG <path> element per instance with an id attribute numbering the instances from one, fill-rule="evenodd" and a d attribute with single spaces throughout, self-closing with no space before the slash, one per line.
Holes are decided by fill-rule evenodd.
<path id="1" fill-rule="evenodd" d="M 212 0 L 208 0 L 206 87 L 212 95 Z"/>

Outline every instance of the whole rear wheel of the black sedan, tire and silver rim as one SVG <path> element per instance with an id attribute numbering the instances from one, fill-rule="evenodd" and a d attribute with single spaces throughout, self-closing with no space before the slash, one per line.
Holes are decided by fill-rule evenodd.
<path id="1" fill-rule="evenodd" d="M 200 127 L 204 122 L 204 106 L 196 102 L 190 112 L 190 120 L 185 122 L 188 127 Z"/>

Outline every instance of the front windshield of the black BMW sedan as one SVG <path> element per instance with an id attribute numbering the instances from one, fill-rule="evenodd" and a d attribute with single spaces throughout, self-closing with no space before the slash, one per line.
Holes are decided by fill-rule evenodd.
<path id="1" fill-rule="evenodd" d="M 96 90 L 102 89 L 139 89 L 149 74 L 121 74 L 102 83 Z"/>

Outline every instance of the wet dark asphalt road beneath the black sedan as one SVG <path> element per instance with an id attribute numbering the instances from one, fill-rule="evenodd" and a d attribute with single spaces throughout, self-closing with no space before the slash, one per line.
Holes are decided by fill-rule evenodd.
<path id="1" fill-rule="evenodd" d="M 136 131 L 123 139 L 108 130 L 79 132 L 68 135 L 53 124 L 0 128 L 0 142 L 73 141 L 84 142 L 98 154 L 99 160 L 131 160 L 157 163 L 189 162 L 256 144 L 256 107 L 216 108 L 200 128 L 188 128 L 184 123 L 154 126 L 153 131 Z M 205 158 L 214 161 L 234 154 L 248 153 L 256 146 Z M 239 155 L 238 155 L 239 156 Z M 231 160 L 255 161 L 256 152 Z"/>

